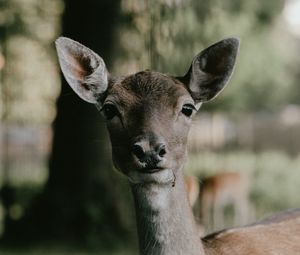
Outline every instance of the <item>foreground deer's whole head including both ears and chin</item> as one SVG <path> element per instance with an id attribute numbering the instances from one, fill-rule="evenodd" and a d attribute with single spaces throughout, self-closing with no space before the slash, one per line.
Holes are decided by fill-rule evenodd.
<path id="1" fill-rule="evenodd" d="M 73 90 L 104 115 L 114 165 L 132 183 L 172 183 L 182 168 L 193 115 L 216 97 L 234 68 L 239 41 L 222 40 L 200 52 L 183 77 L 142 71 L 113 77 L 103 59 L 61 37 L 56 48 Z"/>

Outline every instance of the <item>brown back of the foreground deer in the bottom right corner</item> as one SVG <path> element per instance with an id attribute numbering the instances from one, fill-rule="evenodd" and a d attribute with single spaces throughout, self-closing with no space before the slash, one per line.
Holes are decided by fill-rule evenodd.
<path id="1" fill-rule="evenodd" d="M 203 245 L 208 255 L 300 254 L 300 210 L 208 235 Z"/>

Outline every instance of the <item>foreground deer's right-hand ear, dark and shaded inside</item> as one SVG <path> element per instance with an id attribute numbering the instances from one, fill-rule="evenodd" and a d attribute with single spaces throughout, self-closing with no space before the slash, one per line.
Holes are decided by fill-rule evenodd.
<path id="1" fill-rule="evenodd" d="M 216 97 L 227 84 L 239 49 L 239 40 L 228 38 L 200 52 L 193 60 L 183 82 L 195 103 Z"/>

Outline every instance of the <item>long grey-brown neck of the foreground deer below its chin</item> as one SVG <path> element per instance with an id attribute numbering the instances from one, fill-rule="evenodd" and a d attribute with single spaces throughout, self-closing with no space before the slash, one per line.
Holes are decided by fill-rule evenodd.
<path id="1" fill-rule="evenodd" d="M 132 185 L 141 255 L 202 255 L 184 178 L 176 183 Z"/>

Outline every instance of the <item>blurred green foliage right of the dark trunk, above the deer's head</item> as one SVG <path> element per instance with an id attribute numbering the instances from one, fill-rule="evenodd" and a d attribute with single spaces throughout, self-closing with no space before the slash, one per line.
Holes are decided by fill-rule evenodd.
<path id="1" fill-rule="evenodd" d="M 294 51 L 286 50 L 291 42 L 279 26 L 283 0 L 122 2 L 130 22 L 120 27 L 115 71 L 151 68 L 183 75 L 200 50 L 237 36 L 242 43 L 230 89 L 206 109 L 274 109 L 291 99 L 295 74 L 288 64 Z"/>

